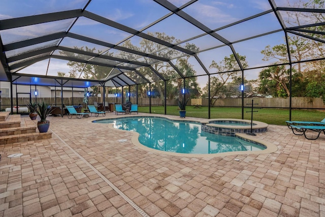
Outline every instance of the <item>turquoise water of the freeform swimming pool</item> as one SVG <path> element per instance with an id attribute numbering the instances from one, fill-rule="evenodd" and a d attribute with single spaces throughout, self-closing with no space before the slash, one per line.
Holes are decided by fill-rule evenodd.
<path id="1" fill-rule="evenodd" d="M 201 132 L 200 122 L 171 121 L 156 117 L 102 119 L 93 122 L 113 123 L 116 129 L 138 132 L 139 142 L 156 150 L 205 154 L 265 149 L 237 137 Z"/>

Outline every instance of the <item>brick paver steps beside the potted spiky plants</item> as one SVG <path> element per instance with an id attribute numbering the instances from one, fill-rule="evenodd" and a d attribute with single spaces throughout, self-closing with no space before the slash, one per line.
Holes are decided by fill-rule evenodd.
<path id="1" fill-rule="evenodd" d="M 18 120 L 19 118 L 19 120 Z M 39 133 L 37 120 L 20 115 L 9 115 L 6 121 L 0 121 L 0 145 L 49 139 L 52 133 Z"/>

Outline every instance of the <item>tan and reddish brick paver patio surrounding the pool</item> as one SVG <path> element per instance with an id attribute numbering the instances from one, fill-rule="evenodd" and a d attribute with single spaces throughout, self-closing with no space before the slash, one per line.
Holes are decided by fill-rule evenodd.
<path id="1" fill-rule="evenodd" d="M 51 139 L 0 145 L 0 216 L 325 216 L 324 135 L 269 126 L 256 137 L 274 153 L 178 157 L 99 118 L 49 117 Z"/>

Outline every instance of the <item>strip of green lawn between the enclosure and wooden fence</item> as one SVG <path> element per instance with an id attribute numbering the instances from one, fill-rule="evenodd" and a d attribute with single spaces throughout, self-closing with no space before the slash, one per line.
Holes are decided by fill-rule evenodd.
<path id="1" fill-rule="evenodd" d="M 251 119 L 251 109 L 244 108 L 244 119 Z M 253 120 L 262 121 L 270 125 L 285 125 L 285 121 L 289 120 L 288 109 L 253 109 Z M 149 113 L 149 106 L 140 106 L 139 112 Z M 152 106 L 151 113 L 164 114 L 164 106 Z M 167 114 L 179 115 L 178 106 L 167 106 Z M 195 108 L 194 106 L 186 106 L 187 117 L 208 118 L 208 107 Z M 233 107 L 211 107 L 211 118 L 242 118 L 241 108 Z M 325 118 L 325 112 L 316 110 L 292 110 L 291 120 L 320 121 Z"/>

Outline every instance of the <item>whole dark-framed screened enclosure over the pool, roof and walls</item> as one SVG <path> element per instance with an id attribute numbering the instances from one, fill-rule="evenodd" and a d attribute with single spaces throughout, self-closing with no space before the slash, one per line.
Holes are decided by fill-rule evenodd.
<path id="1" fill-rule="evenodd" d="M 2 102 L 24 98 L 17 86 L 31 100 L 61 90 L 55 104 L 89 87 L 93 101 L 147 112 L 188 100 L 206 118 L 216 106 L 243 118 L 254 99 L 289 119 L 325 108 L 324 15 L 316 0 L 2 0 Z"/>

